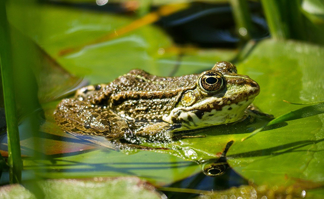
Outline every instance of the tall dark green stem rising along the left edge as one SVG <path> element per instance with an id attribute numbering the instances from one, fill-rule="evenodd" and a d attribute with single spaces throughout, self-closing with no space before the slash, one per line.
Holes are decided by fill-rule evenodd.
<path id="1" fill-rule="evenodd" d="M 21 152 L 19 143 L 16 100 L 14 94 L 9 26 L 5 2 L 0 0 L 0 66 L 3 86 L 5 119 L 8 136 L 8 166 L 10 183 L 21 182 Z"/>

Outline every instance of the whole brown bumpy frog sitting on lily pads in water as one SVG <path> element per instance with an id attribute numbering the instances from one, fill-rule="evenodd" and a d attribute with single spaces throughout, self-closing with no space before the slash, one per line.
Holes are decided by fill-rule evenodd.
<path id="1" fill-rule="evenodd" d="M 107 84 L 83 87 L 54 111 L 60 128 L 140 145 L 172 141 L 181 131 L 235 123 L 254 110 L 258 83 L 230 62 L 178 77 L 135 69 Z"/>

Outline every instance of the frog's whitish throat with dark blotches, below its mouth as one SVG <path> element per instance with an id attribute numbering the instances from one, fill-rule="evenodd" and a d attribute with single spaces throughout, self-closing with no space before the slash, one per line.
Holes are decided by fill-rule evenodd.
<path id="1" fill-rule="evenodd" d="M 253 102 L 254 98 L 240 101 L 238 103 L 231 103 L 222 106 L 222 109 L 211 109 L 206 111 L 199 110 L 192 107 L 176 107 L 169 115 L 164 115 L 162 119 L 168 123 L 181 123 L 182 127 L 177 130 L 194 129 L 213 125 L 220 125 L 231 123 L 240 120 L 244 114 L 245 109 Z"/>

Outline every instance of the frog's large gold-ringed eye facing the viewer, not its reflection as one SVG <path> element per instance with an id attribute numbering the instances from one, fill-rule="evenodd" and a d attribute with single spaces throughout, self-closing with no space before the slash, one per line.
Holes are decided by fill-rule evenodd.
<path id="1" fill-rule="evenodd" d="M 217 71 L 205 71 L 200 75 L 198 84 L 204 93 L 214 94 L 224 87 L 224 78 Z"/>

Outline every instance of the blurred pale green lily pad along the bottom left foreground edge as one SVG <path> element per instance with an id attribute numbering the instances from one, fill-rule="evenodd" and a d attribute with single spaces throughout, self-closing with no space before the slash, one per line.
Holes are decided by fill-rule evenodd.
<path id="1" fill-rule="evenodd" d="M 33 184 L 32 184 L 33 183 Z M 46 180 L 0 188 L 1 199 L 165 199 L 165 195 L 139 178 Z M 38 186 L 38 192 L 28 190 Z M 26 189 L 26 188 L 27 189 Z"/>

